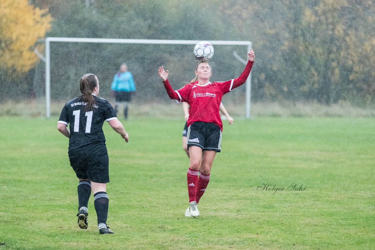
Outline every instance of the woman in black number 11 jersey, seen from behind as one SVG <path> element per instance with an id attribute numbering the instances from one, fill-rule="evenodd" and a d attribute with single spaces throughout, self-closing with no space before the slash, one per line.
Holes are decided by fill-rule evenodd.
<path id="1" fill-rule="evenodd" d="M 108 153 L 102 130 L 104 121 L 108 121 L 125 142 L 128 142 L 129 135 L 117 120 L 111 104 L 97 96 L 99 81 L 96 75 L 82 76 L 80 90 L 82 95 L 65 104 L 57 122 L 58 131 L 69 138 L 69 160 L 79 180 L 78 226 L 87 229 L 87 205 L 93 192 L 99 232 L 113 234 L 107 227 L 109 199 L 106 184 L 110 179 Z"/>

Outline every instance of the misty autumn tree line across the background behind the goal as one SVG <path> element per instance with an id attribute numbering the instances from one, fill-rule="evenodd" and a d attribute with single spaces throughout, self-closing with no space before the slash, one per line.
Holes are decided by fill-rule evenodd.
<path id="1" fill-rule="evenodd" d="M 44 53 L 37 39 L 46 36 L 251 40 L 257 57 L 253 101 L 366 104 L 375 95 L 374 1 L 3 0 L 0 10 L 2 100 L 43 93 L 44 63 L 34 49 Z M 214 48 L 213 80 L 238 76 L 243 64 L 232 51 L 246 58 L 246 48 Z M 92 72 L 105 96 L 126 62 L 137 92 L 163 99 L 157 67 L 167 67 L 174 87 L 182 87 L 194 76 L 192 50 L 186 45 L 51 43 L 51 94 L 55 99 L 79 94 L 79 77 Z"/>

